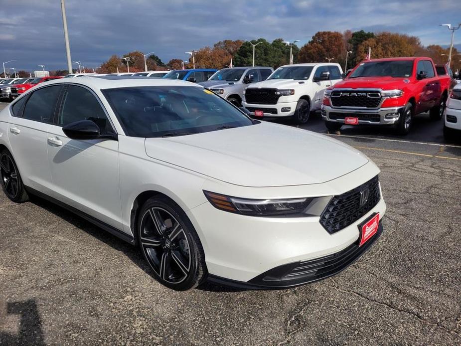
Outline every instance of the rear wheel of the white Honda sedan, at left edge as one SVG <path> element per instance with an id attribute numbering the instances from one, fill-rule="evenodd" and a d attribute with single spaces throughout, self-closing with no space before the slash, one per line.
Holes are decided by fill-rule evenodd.
<path id="1" fill-rule="evenodd" d="M 0 154 L 0 176 L 1 188 L 6 197 L 16 203 L 22 203 L 29 199 L 16 163 L 11 153 L 6 149 Z"/>

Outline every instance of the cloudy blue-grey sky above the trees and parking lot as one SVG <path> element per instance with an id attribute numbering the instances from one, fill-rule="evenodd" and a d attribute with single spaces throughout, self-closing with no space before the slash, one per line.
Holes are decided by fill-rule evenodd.
<path id="1" fill-rule="evenodd" d="M 59 0 L 0 0 L 0 63 L 66 69 Z M 450 43 L 460 0 L 66 0 L 72 60 L 97 67 L 112 54 L 154 51 L 164 62 L 222 39 L 306 43 L 316 31 L 394 31 Z M 461 43 L 461 30 L 455 34 Z M 1 66 L 1 65 L 0 65 Z"/>

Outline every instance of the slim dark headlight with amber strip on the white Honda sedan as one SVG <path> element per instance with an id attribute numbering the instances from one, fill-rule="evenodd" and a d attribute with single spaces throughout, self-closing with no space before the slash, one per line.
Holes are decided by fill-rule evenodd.
<path id="1" fill-rule="evenodd" d="M 251 216 L 307 216 L 306 209 L 313 198 L 248 199 L 203 191 L 215 208 Z"/>

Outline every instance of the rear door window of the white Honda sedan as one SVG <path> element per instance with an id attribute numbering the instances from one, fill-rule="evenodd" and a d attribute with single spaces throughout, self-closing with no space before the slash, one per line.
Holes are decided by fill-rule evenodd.
<path id="1" fill-rule="evenodd" d="M 34 91 L 25 104 L 22 117 L 43 123 L 51 123 L 60 91 L 60 85 Z"/>

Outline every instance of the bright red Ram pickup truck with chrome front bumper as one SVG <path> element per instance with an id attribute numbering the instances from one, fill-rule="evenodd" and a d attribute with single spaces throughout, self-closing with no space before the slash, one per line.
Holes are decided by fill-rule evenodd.
<path id="1" fill-rule="evenodd" d="M 416 114 L 442 119 L 449 87 L 450 76 L 439 76 L 430 58 L 362 61 L 325 90 L 322 119 L 330 132 L 342 125 L 391 125 L 406 135 Z"/>

